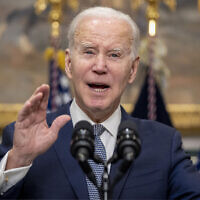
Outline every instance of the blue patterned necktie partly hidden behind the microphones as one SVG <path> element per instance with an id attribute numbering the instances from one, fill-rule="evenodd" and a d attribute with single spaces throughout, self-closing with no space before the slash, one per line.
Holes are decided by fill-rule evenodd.
<path id="1" fill-rule="evenodd" d="M 106 150 L 100 139 L 100 135 L 104 132 L 105 128 L 101 124 L 95 124 L 94 128 L 94 136 L 95 136 L 95 154 L 101 157 L 102 160 L 106 161 Z M 98 186 L 101 186 L 102 175 L 104 166 L 102 164 L 97 164 L 93 160 L 89 160 L 89 164 L 95 174 Z M 86 177 L 86 182 L 88 186 L 89 199 L 90 200 L 99 200 L 100 196 L 96 186 Z"/>

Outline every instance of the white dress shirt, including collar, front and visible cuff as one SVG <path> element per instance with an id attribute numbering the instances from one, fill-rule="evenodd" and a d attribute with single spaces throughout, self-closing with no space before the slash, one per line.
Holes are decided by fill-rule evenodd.
<path id="1" fill-rule="evenodd" d="M 95 124 L 76 104 L 75 99 L 72 101 L 72 104 L 70 106 L 70 115 L 72 119 L 73 126 L 80 121 L 80 120 L 87 120 L 92 125 Z M 117 130 L 118 126 L 121 121 L 121 110 L 120 106 L 115 110 L 115 112 L 104 122 L 101 124 L 105 127 L 105 131 L 101 134 L 100 138 L 105 146 L 106 149 L 106 156 L 109 159 L 115 148 L 115 143 L 117 139 Z M 0 192 L 1 194 L 6 192 L 8 189 L 10 189 L 13 185 L 15 185 L 17 182 L 22 180 L 27 172 L 29 171 L 30 167 L 20 167 L 16 169 L 10 169 L 5 170 L 6 163 L 7 163 L 7 157 L 8 153 L 3 157 L 3 159 L 0 162 Z M 110 169 L 110 166 L 109 166 Z"/>

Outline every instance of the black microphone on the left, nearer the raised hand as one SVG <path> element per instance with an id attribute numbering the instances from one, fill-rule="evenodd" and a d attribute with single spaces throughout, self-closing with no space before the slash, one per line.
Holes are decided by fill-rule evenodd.
<path id="1" fill-rule="evenodd" d="M 94 158 L 93 127 L 88 121 L 79 121 L 75 125 L 71 140 L 71 154 L 78 160 L 89 180 L 97 185 L 95 175 L 88 163 L 88 159 Z"/>

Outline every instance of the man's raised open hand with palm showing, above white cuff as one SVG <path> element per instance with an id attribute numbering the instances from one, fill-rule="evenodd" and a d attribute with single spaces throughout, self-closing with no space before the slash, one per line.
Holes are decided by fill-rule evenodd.
<path id="1" fill-rule="evenodd" d="M 25 102 L 15 123 L 13 147 L 8 154 L 6 169 L 27 166 L 56 141 L 58 132 L 70 116 L 57 117 L 49 128 L 46 122 L 46 108 L 49 86 L 38 87 Z"/>

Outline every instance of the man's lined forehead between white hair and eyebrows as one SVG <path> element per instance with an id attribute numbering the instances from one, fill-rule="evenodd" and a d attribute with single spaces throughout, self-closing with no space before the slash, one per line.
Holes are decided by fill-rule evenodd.
<path id="1" fill-rule="evenodd" d="M 132 29 L 122 19 L 87 16 L 77 25 L 74 33 L 74 41 L 75 43 L 100 42 L 105 45 L 118 43 L 131 46 Z"/>

